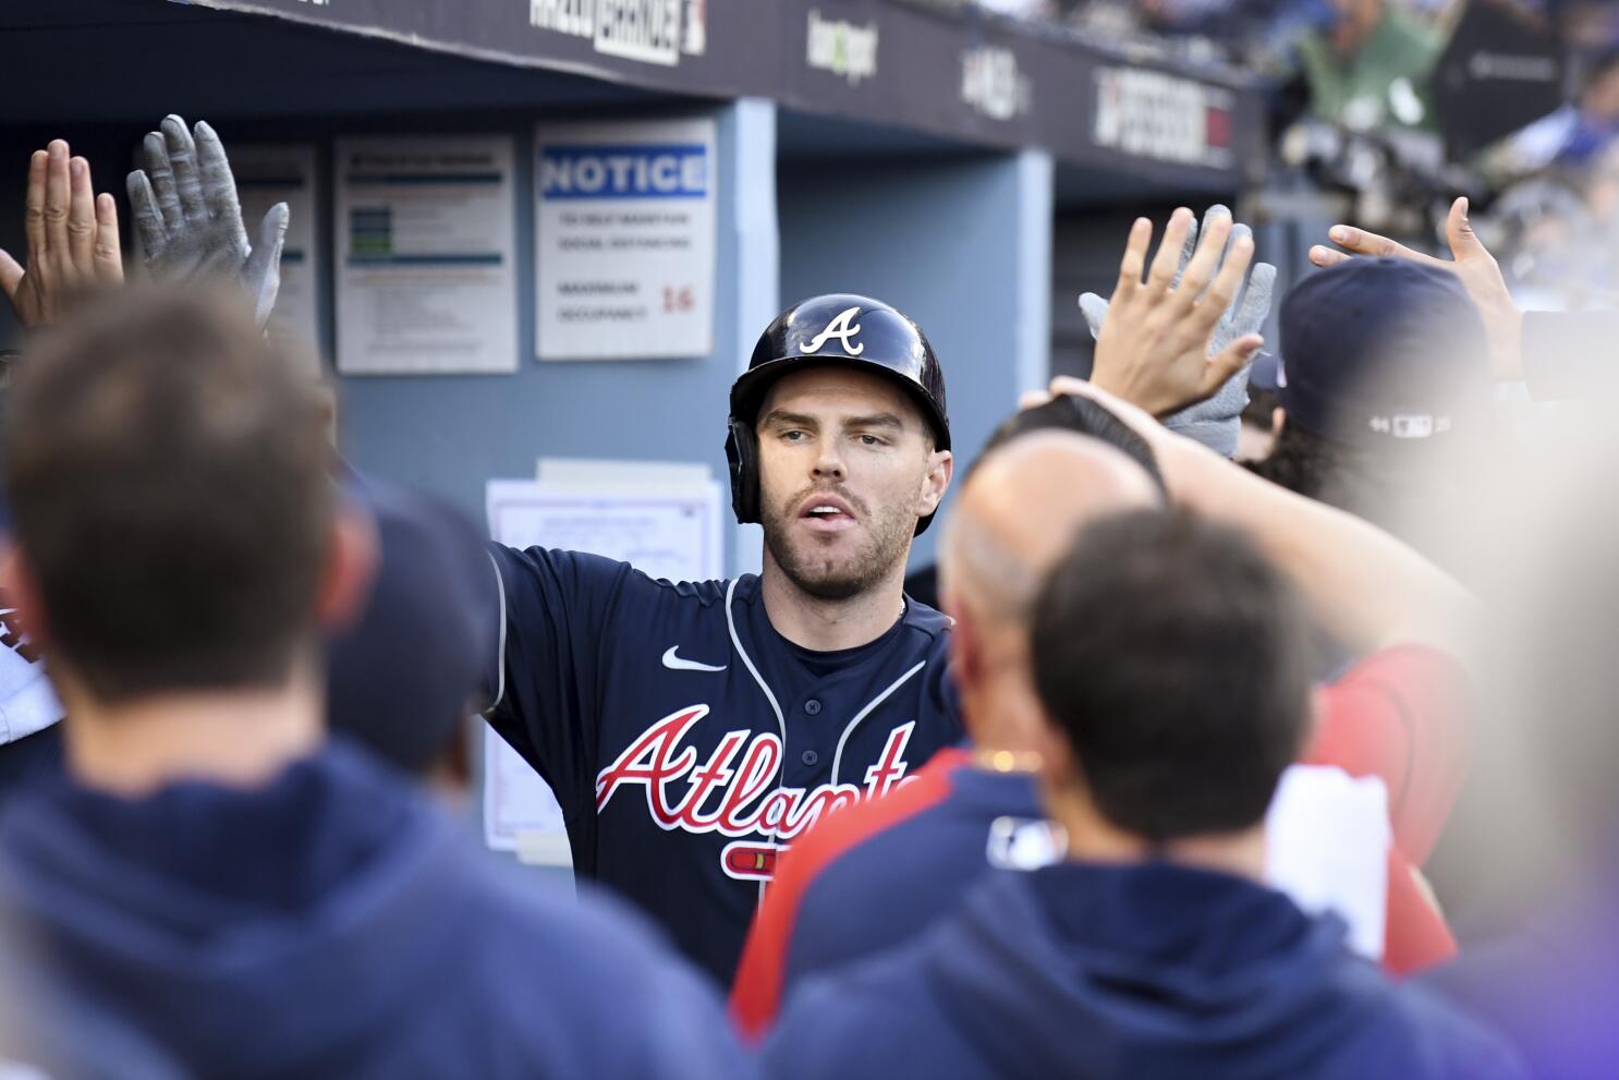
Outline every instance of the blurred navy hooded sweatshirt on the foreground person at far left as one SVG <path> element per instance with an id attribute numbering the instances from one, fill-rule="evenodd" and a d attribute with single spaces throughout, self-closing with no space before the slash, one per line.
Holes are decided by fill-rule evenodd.
<path id="1" fill-rule="evenodd" d="M 47 779 L 0 819 L 0 913 L 52 1077 L 746 1072 L 636 920 L 518 881 L 342 745 L 256 790 Z"/>

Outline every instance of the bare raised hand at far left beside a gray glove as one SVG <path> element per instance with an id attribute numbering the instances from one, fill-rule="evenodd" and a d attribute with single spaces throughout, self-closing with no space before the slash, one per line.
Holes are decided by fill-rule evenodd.
<path id="1" fill-rule="evenodd" d="M 23 232 L 28 266 L 0 251 L 0 291 L 24 327 L 58 322 L 84 293 L 123 283 L 118 206 L 96 194 L 89 162 L 62 139 L 29 159 Z"/>

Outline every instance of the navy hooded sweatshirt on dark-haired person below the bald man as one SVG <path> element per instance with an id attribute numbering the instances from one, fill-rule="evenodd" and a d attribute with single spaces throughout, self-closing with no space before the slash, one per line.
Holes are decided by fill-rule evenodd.
<path id="1" fill-rule="evenodd" d="M 916 942 L 808 980 L 774 1077 L 1506 1080 L 1493 1035 L 1255 882 L 1167 863 L 984 881 Z"/>

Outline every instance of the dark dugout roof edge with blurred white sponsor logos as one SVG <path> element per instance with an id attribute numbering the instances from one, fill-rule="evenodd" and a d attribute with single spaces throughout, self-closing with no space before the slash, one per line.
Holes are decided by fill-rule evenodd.
<path id="1" fill-rule="evenodd" d="M 975 5 L 892 0 L 191 0 L 484 62 L 813 115 L 1175 185 L 1260 154 L 1258 79 L 1035 31 Z M 1496 63 L 1491 60 L 1491 63 Z M 1522 73 L 1512 66 L 1514 74 Z M 1538 71 L 1536 71 L 1538 73 Z"/>

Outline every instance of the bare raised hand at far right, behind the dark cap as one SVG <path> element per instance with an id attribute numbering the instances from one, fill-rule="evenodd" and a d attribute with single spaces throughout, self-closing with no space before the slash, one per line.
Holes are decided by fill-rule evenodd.
<path id="1" fill-rule="evenodd" d="M 1444 222 L 1444 236 L 1451 243 L 1451 254 L 1455 256 L 1454 262 L 1412 251 L 1387 236 L 1368 233 L 1353 225 L 1334 225 L 1328 230 L 1328 236 L 1339 248 L 1347 248 L 1353 254 L 1409 259 L 1410 262 L 1444 267 L 1455 274 L 1462 280 L 1467 295 L 1472 296 L 1473 304 L 1478 306 L 1478 314 L 1483 316 L 1485 329 L 1489 332 L 1489 369 L 1496 379 L 1520 377 L 1523 363 L 1523 313 L 1512 301 L 1512 293 L 1507 291 L 1507 282 L 1501 275 L 1501 266 L 1496 262 L 1496 257 L 1489 254 L 1489 249 L 1485 248 L 1468 223 L 1465 198 L 1451 204 L 1451 214 Z M 1332 251 L 1321 244 L 1310 249 L 1310 261 L 1321 267 L 1337 266 L 1349 257 L 1342 251 Z"/>

